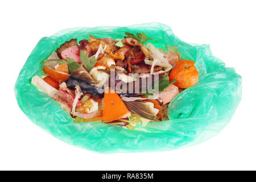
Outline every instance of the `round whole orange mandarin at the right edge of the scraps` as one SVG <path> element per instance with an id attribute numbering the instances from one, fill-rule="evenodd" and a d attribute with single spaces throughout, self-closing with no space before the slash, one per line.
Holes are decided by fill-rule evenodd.
<path id="1" fill-rule="evenodd" d="M 170 81 L 177 80 L 174 85 L 179 88 L 189 88 L 197 84 L 199 73 L 194 64 L 195 62 L 191 60 L 177 61 L 170 73 Z"/>

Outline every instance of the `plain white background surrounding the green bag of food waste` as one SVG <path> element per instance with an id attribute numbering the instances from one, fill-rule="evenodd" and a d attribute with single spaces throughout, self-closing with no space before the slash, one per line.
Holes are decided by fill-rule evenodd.
<path id="1" fill-rule="evenodd" d="M 255 1 L 1 1 L 0 169 L 256 169 Z M 167 152 L 97 154 L 34 125 L 16 104 L 14 84 L 43 36 L 69 27 L 168 24 L 185 42 L 210 44 L 242 76 L 242 101 L 216 137 Z"/>

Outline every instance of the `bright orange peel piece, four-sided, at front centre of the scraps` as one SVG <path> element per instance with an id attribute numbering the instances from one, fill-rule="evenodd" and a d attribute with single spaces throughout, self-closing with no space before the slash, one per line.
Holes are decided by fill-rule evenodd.
<path id="1" fill-rule="evenodd" d="M 130 111 L 117 93 L 105 92 L 103 121 L 110 122 L 120 118 L 130 117 Z"/>

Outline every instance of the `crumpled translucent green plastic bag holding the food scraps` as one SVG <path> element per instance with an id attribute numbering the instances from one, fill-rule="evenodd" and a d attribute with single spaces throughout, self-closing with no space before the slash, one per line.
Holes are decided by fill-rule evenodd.
<path id="1" fill-rule="evenodd" d="M 74 123 L 60 105 L 32 85 L 32 76 L 42 72 L 43 60 L 72 38 L 121 39 L 125 32 L 145 32 L 155 47 L 177 46 L 182 59 L 196 62 L 199 83 L 181 92 L 169 105 L 170 121 L 148 123 L 136 130 L 98 122 Z M 165 151 L 192 146 L 218 134 L 230 121 L 241 100 L 241 76 L 212 56 L 208 45 L 188 44 L 171 28 L 160 23 L 129 27 L 69 28 L 42 38 L 28 57 L 15 85 L 20 109 L 36 125 L 56 138 L 88 150 L 113 152 Z"/>

